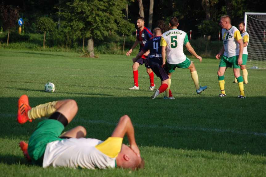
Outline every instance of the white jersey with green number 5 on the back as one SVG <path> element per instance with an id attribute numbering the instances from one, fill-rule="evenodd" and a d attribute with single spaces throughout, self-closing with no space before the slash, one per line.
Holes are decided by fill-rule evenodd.
<path id="1" fill-rule="evenodd" d="M 183 45 L 188 43 L 185 31 L 171 29 L 163 33 L 161 46 L 166 46 L 166 61 L 169 64 L 179 64 L 186 60 Z"/>

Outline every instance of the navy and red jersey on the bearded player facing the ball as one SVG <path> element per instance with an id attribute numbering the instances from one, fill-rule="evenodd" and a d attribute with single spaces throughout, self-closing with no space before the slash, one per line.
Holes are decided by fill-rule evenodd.
<path id="1" fill-rule="evenodd" d="M 142 48 L 145 46 L 146 43 L 148 43 L 148 41 L 150 39 L 153 38 L 153 34 L 150 31 L 149 28 L 144 27 L 142 31 L 140 31 L 139 29 L 137 30 L 137 40 L 140 43 L 140 49 L 139 51 L 142 50 Z M 148 56 L 141 56 L 141 58 L 148 58 Z"/>

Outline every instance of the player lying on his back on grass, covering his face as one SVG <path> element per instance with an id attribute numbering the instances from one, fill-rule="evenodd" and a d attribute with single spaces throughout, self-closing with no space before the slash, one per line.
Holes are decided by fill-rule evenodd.
<path id="1" fill-rule="evenodd" d="M 31 108 L 27 95 L 18 100 L 18 122 L 23 124 L 36 118 L 49 117 L 39 122 L 29 139 L 29 144 L 20 142 L 23 154 L 33 164 L 42 167 L 72 168 L 131 168 L 144 167 L 144 160 L 135 142 L 134 128 L 130 118 L 120 118 L 111 137 L 104 142 L 84 138 L 86 130 L 77 126 L 62 136 L 60 134 L 78 111 L 74 100 L 61 100 L 45 103 Z M 129 146 L 122 144 L 127 134 Z"/>

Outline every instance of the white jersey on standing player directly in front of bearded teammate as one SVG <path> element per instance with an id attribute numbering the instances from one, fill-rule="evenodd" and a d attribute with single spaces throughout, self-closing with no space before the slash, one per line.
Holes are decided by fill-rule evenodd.
<path id="1" fill-rule="evenodd" d="M 238 40 L 242 39 L 239 30 L 232 26 L 229 30 L 222 29 L 224 56 L 237 56 L 239 55 Z"/>

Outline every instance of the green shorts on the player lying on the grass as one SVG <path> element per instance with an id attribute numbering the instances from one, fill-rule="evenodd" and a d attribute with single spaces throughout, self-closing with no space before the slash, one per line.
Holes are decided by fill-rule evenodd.
<path id="1" fill-rule="evenodd" d="M 63 140 L 58 138 L 63 130 L 63 124 L 55 119 L 46 119 L 38 124 L 36 130 L 31 135 L 28 146 L 28 153 L 34 164 L 43 165 L 46 145 L 49 142 Z"/>

